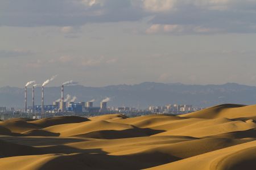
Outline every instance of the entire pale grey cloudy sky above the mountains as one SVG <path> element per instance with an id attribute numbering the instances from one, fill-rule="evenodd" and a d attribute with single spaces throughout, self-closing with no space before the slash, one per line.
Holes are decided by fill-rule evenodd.
<path id="1" fill-rule="evenodd" d="M 256 86 L 256 0 L 1 0 L 0 87 Z"/>

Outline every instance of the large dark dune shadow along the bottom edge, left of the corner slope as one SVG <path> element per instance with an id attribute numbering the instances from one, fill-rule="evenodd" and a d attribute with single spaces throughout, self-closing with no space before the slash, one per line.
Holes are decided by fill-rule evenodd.
<path id="1" fill-rule="evenodd" d="M 106 154 L 61 155 L 44 163 L 39 169 L 144 169 L 180 160 L 155 152 L 150 155 L 113 156 Z"/>

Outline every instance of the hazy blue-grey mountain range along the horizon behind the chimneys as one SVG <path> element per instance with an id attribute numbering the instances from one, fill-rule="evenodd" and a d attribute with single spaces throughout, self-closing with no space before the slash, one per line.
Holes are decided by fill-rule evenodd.
<path id="1" fill-rule="evenodd" d="M 40 104 L 41 88 L 35 89 L 35 103 Z M 44 103 L 52 104 L 60 98 L 60 87 L 44 88 Z M 77 101 L 95 99 L 94 105 L 100 105 L 105 97 L 110 97 L 109 106 L 146 108 L 149 105 L 193 104 L 197 107 L 209 107 L 223 103 L 255 104 L 256 87 L 236 83 L 222 85 L 187 85 L 181 83 L 144 82 L 135 85 L 117 85 L 106 87 L 67 86 L 65 95 L 76 96 Z M 31 89 L 28 88 L 28 105 L 31 105 Z M 18 87 L 0 88 L 0 106 L 23 107 L 24 89 Z"/>

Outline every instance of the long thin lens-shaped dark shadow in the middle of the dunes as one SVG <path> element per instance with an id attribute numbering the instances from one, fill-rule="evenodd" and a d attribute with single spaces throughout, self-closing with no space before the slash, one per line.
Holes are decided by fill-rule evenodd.
<path id="1" fill-rule="evenodd" d="M 75 135 L 80 138 L 94 138 L 94 139 L 121 139 L 121 138 L 135 138 L 148 137 L 150 135 L 162 133 L 164 130 L 153 130 L 149 128 L 134 128 L 125 130 L 100 130 L 92 131 L 86 134 Z"/>

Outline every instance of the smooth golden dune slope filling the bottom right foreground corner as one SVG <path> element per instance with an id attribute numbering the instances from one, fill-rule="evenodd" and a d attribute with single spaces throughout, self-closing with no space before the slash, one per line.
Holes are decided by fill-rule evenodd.
<path id="1" fill-rule="evenodd" d="M 149 169 L 254 169 L 255 153 L 256 141 L 253 141 Z"/>

